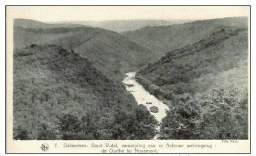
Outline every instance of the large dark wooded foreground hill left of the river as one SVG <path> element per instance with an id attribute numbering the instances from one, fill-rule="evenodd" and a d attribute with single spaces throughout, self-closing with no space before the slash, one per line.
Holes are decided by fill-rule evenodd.
<path id="1" fill-rule="evenodd" d="M 118 81 L 57 45 L 14 52 L 14 139 L 151 139 L 155 119 Z"/>

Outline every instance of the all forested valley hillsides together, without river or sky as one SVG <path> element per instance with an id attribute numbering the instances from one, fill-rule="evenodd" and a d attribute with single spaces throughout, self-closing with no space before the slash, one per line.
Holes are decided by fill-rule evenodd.
<path id="1" fill-rule="evenodd" d="M 248 139 L 248 19 L 140 23 L 151 25 L 15 20 L 14 139 Z M 128 72 L 168 106 L 160 123 Z"/>

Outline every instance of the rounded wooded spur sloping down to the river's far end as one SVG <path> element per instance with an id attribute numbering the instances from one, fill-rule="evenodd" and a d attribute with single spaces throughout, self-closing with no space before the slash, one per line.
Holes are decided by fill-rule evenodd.
<path id="1" fill-rule="evenodd" d="M 106 76 L 119 76 L 119 80 L 124 78 L 126 72 L 135 71 L 153 61 L 156 55 L 125 36 L 98 28 L 84 29 L 80 34 L 53 43 L 74 50 Z"/>

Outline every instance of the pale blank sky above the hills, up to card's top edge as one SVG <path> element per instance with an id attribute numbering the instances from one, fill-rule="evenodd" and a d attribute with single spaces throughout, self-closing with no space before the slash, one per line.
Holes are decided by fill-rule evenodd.
<path id="1" fill-rule="evenodd" d="M 7 16 L 42 22 L 130 19 L 200 20 L 248 16 L 246 6 L 9 6 Z"/>

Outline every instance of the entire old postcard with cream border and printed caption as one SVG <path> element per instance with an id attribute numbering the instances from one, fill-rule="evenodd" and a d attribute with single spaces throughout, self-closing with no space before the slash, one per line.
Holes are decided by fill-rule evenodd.
<path id="1" fill-rule="evenodd" d="M 250 6 L 7 6 L 6 26 L 7 152 L 250 152 Z"/>

